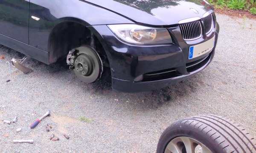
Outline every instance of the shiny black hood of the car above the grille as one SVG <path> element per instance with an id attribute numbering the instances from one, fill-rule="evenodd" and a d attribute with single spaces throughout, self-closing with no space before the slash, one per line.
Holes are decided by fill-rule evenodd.
<path id="1" fill-rule="evenodd" d="M 213 7 L 204 0 L 83 0 L 108 9 L 135 23 L 155 26 L 177 24 L 180 20 L 203 17 Z"/>

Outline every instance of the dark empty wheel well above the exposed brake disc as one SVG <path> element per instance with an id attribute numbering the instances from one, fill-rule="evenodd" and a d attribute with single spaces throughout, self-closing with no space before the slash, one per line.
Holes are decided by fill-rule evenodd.
<path id="1" fill-rule="evenodd" d="M 109 65 L 104 41 L 98 32 L 90 29 L 89 23 L 73 17 L 55 21 L 48 38 L 49 63 L 55 63 L 66 57 L 71 49 L 83 45 L 96 49 L 100 55 L 105 56 L 105 65 Z"/>

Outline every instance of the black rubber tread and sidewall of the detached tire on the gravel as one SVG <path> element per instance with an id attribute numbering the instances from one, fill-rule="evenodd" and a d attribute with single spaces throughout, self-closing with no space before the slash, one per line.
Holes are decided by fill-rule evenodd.
<path id="1" fill-rule="evenodd" d="M 201 142 L 212 153 L 256 153 L 256 140 L 236 122 L 218 115 L 197 115 L 173 123 L 160 136 L 157 153 L 165 153 L 169 142 L 181 136 Z"/>

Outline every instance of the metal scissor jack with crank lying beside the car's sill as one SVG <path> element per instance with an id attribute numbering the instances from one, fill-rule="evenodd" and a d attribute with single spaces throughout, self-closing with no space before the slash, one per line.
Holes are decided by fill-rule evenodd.
<path id="1" fill-rule="evenodd" d="M 24 74 L 29 74 L 30 72 L 33 72 L 32 69 L 26 67 L 23 65 L 23 63 L 28 59 L 28 56 L 25 56 L 24 58 L 20 59 L 20 60 L 16 60 L 15 58 L 12 58 L 12 61 L 10 62 L 6 62 L 9 64 L 9 71 L 10 71 L 10 75 L 11 75 L 11 79 L 10 80 L 6 80 L 6 82 L 10 82 L 12 80 L 12 71 L 11 71 L 11 63 L 13 67 L 16 67 L 17 69 L 19 69 L 20 71 L 22 71 Z"/>

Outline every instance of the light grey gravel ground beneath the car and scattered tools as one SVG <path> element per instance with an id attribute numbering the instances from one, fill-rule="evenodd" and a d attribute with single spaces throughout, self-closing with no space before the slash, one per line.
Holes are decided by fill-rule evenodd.
<path id="1" fill-rule="evenodd" d="M 26 65 L 35 72 L 12 69 L 13 80 L 6 83 L 8 66 L 0 59 L 0 120 L 18 116 L 15 124 L 0 123 L 0 152 L 153 153 L 172 122 L 206 113 L 231 118 L 256 137 L 256 20 L 217 18 L 221 33 L 212 63 L 190 80 L 151 92 L 120 93 L 103 82 L 85 84 L 61 63 L 33 59 Z M 7 60 L 23 56 L 4 46 L 0 55 Z M 51 116 L 31 130 L 47 110 Z M 60 141 L 50 141 L 52 133 Z M 35 143 L 13 144 L 14 139 Z"/>

